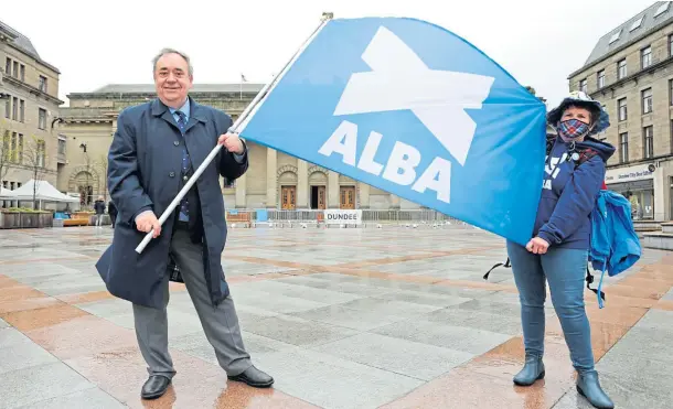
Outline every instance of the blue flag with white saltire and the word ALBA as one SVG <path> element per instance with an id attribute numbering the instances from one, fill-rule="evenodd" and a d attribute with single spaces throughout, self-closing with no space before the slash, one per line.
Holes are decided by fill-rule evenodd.
<path id="1" fill-rule="evenodd" d="M 407 18 L 329 20 L 238 128 L 524 245 L 545 105 L 458 35 Z"/>

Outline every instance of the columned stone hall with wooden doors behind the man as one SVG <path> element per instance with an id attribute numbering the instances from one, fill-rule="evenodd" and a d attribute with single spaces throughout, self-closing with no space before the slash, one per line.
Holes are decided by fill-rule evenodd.
<path id="1" fill-rule="evenodd" d="M 261 84 L 194 84 L 190 95 L 222 109 L 234 120 L 261 89 Z M 66 163 L 57 189 L 78 193 L 84 205 L 107 196 L 107 152 L 119 111 L 156 97 L 152 84 L 107 85 L 92 93 L 68 95 L 61 108 Z M 222 186 L 228 208 L 418 208 L 384 191 L 248 141 L 249 169 L 232 185 Z"/>

